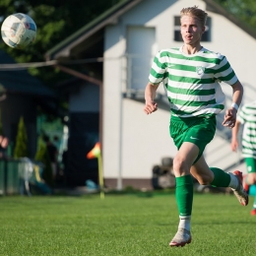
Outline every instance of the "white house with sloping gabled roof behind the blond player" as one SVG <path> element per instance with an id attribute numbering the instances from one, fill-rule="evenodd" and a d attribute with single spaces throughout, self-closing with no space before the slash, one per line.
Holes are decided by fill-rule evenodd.
<path id="1" fill-rule="evenodd" d="M 161 48 L 182 44 L 179 13 L 182 8 L 193 5 L 209 15 L 202 45 L 227 57 L 244 85 L 244 100 L 254 99 L 256 52 L 252 49 L 256 47 L 256 33 L 213 0 L 122 1 L 46 53 L 46 59 L 56 59 L 60 64 L 89 58 L 102 64 L 99 138 L 104 181 L 109 187 L 151 188 L 153 166 L 160 164 L 163 157 L 173 158 L 176 154 L 168 132 L 169 111 L 164 90 L 161 87 L 157 97 L 160 109 L 146 115 L 144 89 L 154 55 Z M 101 51 L 98 50 L 100 43 L 103 43 Z M 66 72 L 73 73 L 71 69 Z M 82 78 L 83 74 L 80 75 Z M 228 105 L 231 88 L 222 86 Z M 87 111 L 86 107 L 83 109 Z M 220 120 L 222 117 L 221 114 Z M 206 160 L 209 165 L 226 171 L 234 167 L 244 170 L 239 154 L 230 151 L 229 137 L 230 130 L 219 124 L 215 140 L 206 149 Z"/>

